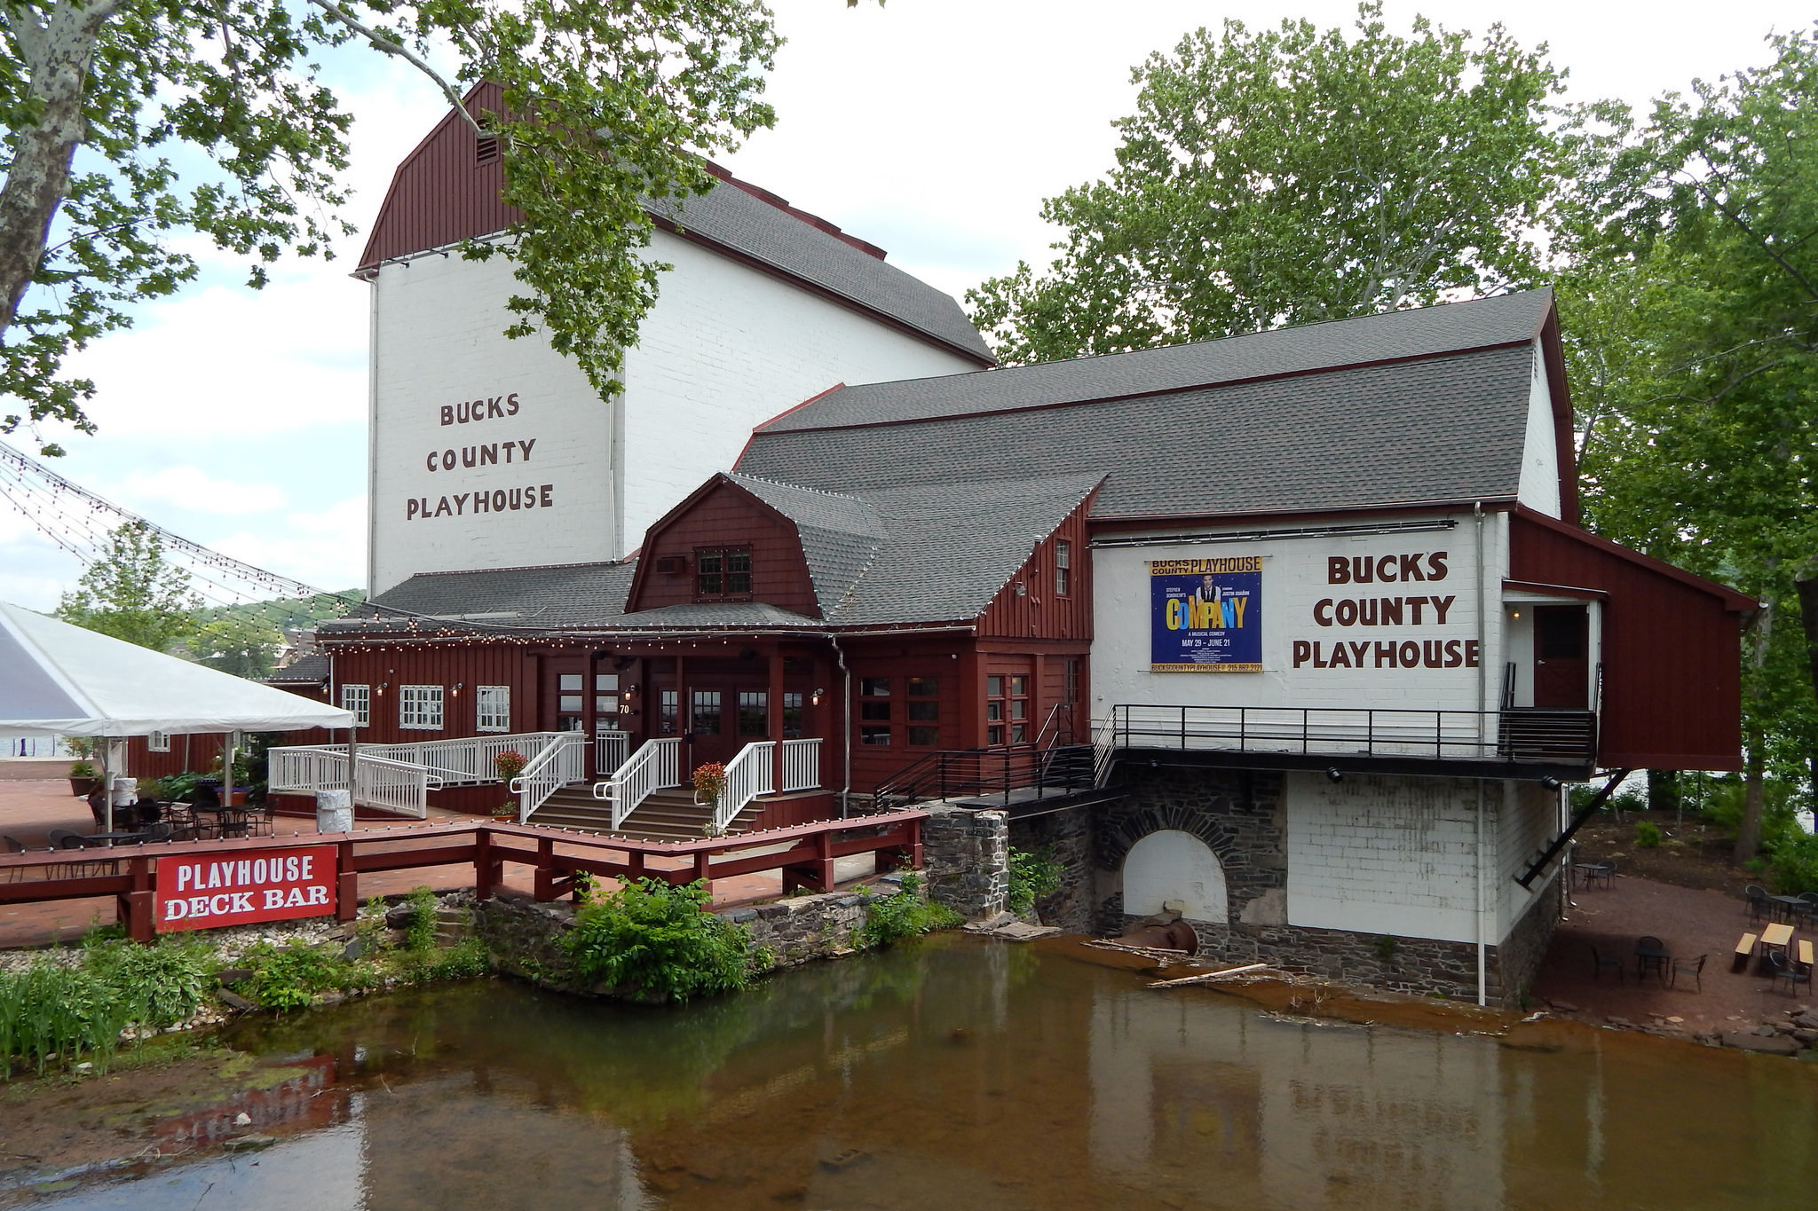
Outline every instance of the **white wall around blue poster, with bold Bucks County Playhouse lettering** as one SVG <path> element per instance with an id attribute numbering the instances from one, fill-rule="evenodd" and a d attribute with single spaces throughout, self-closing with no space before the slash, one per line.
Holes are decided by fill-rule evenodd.
<path id="1" fill-rule="evenodd" d="M 1374 706 L 1407 710 L 1494 708 L 1502 688 L 1502 577 L 1507 566 L 1507 527 L 1500 514 L 1482 521 L 1483 572 L 1476 559 L 1478 521 L 1471 512 L 1436 514 L 1451 528 L 1400 534 L 1340 534 L 1324 537 L 1265 537 L 1244 543 L 1154 543 L 1102 546 L 1093 552 L 1093 715 L 1120 703 L 1204 706 Z M 1209 528 L 1207 534 L 1218 534 Z M 1151 561 L 1262 559 L 1262 599 L 1245 625 L 1262 628 L 1262 672 L 1151 672 Z M 1403 557 L 1414 563 L 1403 565 Z M 1367 561 L 1373 576 L 1393 570 L 1393 581 L 1333 583 L 1333 559 L 1354 572 Z M 1436 563 L 1443 576 L 1434 576 Z M 1425 579 L 1402 579 L 1418 566 Z M 1480 588 L 1480 581 L 1487 585 Z M 1487 588 L 1483 634 L 1478 601 Z M 1402 601 L 1402 621 L 1383 625 L 1382 599 Z M 1445 621 L 1433 605 L 1445 603 Z M 1342 601 L 1367 603 L 1360 617 L 1342 625 Z M 1414 623 L 1418 599 L 1420 623 Z M 1331 603 L 1331 605 L 1322 605 Z M 1376 625 L 1364 617 L 1374 615 Z M 1304 648 L 1296 648 L 1296 641 Z M 1333 645 L 1345 645 L 1345 665 L 1333 666 Z M 1385 657 L 1378 645 L 1393 643 Z M 1402 645 L 1420 648 L 1420 663 L 1402 666 Z M 1465 645 L 1480 645 L 1483 675 L 1467 659 Z M 1313 645 L 1320 645 L 1313 648 Z M 1364 645 L 1356 648 L 1354 645 Z M 1427 646 L 1438 645 L 1438 646 Z M 1440 665 L 1427 665 L 1438 652 Z M 1358 657 L 1362 654 L 1362 668 Z M 1456 665 L 1451 661 L 1456 657 Z M 1298 663 L 1296 663 L 1298 659 Z M 1327 663 L 1320 668 L 1320 663 Z M 1445 666 L 1451 665 L 1451 666 Z M 1482 703 L 1482 706 L 1480 706 Z M 1458 723 L 1458 721 L 1454 721 Z"/>

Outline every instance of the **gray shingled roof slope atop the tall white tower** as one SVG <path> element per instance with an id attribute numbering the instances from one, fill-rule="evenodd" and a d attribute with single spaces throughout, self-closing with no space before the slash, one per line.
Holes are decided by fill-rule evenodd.
<path id="1" fill-rule="evenodd" d="M 682 203 L 651 202 L 645 209 L 660 220 L 676 223 L 687 234 L 742 252 L 791 278 L 905 323 L 978 358 L 982 365 L 996 363 L 985 338 L 951 294 L 942 294 L 920 278 L 911 278 L 894 265 L 736 185 L 722 183 Z"/>

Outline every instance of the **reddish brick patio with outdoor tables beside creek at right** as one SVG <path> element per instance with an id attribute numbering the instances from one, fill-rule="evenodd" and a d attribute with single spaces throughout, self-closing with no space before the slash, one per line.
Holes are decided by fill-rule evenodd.
<path id="1" fill-rule="evenodd" d="M 1680 1017 L 1689 1033 L 1734 1029 L 1738 1019 L 1754 1022 L 1778 1017 L 1800 1004 L 1763 975 L 1733 973 L 1731 953 L 1736 940 L 1760 933 L 1751 924 L 1740 899 L 1723 891 L 1678 888 L 1651 879 L 1618 875 L 1605 890 L 1576 888 L 1576 908 L 1553 935 L 1547 960 L 1534 980 L 1534 993 L 1545 1000 L 1576 1006 L 1574 1017 L 1602 1024 L 1607 1017 L 1647 1026 L 1651 1015 Z M 1634 940 L 1651 933 L 1665 942 L 1678 960 L 1709 955 L 1703 991 L 1691 977 L 1678 977 L 1676 988 L 1663 988 L 1653 975 L 1636 979 Z M 1794 937 L 1811 937 L 1809 931 Z M 1591 948 L 1623 960 L 1625 971 L 1594 975 Z"/>

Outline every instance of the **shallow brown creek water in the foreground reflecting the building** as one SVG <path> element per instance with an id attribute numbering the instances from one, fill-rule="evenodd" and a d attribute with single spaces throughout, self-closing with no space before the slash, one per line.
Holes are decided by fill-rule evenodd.
<path id="1" fill-rule="evenodd" d="M 945 935 L 680 1009 L 484 980 L 244 1020 L 225 1044 L 295 1075 L 185 1129 L 275 1144 L 31 1206 L 1818 1207 L 1818 1064 L 1296 1020 L 1085 953 Z"/>

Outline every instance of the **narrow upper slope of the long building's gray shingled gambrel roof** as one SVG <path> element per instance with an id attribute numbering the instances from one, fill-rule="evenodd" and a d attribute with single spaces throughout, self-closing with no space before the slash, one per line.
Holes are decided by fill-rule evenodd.
<path id="1" fill-rule="evenodd" d="M 864 383 L 785 412 L 758 432 L 1038 409 L 1514 345 L 1538 336 L 1551 305 L 1553 290 L 1525 290 L 1194 345 Z"/>

